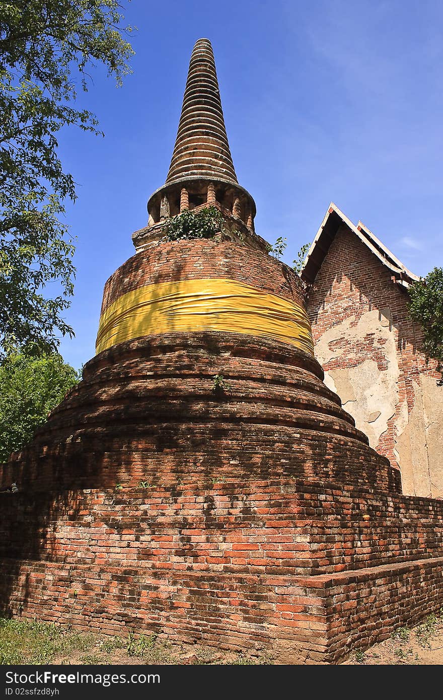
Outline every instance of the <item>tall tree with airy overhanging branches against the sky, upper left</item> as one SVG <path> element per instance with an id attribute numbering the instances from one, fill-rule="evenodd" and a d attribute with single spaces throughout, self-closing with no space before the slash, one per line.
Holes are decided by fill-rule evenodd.
<path id="1" fill-rule="evenodd" d="M 129 0 L 130 1 L 130 0 Z M 117 0 L 8 0 L 0 8 L 0 348 L 52 351 L 73 293 L 73 241 L 64 200 L 76 199 L 57 155 L 66 125 L 99 134 L 78 109 L 90 65 L 117 84 L 132 48 Z M 127 27 L 126 31 L 131 31 Z M 45 286 L 55 282 L 55 295 Z"/>

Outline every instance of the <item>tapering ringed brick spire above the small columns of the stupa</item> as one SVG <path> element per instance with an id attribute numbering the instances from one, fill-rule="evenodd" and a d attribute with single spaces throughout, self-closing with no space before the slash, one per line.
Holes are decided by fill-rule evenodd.
<path id="1" fill-rule="evenodd" d="M 227 141 L 220 90 L 209 39 L 192 50 L 174 153 L 166 184 L 184 179 L 238 183 Z"/>

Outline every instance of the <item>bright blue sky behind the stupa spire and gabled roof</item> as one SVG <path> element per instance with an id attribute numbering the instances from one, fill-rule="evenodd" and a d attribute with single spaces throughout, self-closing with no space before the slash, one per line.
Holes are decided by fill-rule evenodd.
<path id="1" fill-rule="evenodd" d="M 94 355 L 103 286 L 134 253 L 164 183 L 197 38 L 213 45 L 239 183 L 257 232 L 292 262 L 332 200 L 416 274 L 443 265 L 443 3 L 438 0 L 122 0 L 136 55 L 116 88 L 92 71 L 79 103 L 105 138 L 71 127 L 60 154 L 78 183 L 76 293 L 60 351 Z"/>

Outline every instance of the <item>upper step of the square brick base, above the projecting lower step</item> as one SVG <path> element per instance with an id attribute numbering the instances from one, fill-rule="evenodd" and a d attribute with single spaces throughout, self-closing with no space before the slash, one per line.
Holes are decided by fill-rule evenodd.
<path id="1" fill-rule="evenodd" d="M 2 512 L 0 553 L 16 559 L 320 575 L 443 556 L 440 500 L 287 476 L 19 493 Z"/>

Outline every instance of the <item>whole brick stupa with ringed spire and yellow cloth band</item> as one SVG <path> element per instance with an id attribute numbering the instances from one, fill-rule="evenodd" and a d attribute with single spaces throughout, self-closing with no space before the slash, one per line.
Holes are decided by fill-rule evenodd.
<path id="1" fill-rule="evenodd" d="M 168 241 L 216 207 L 223 231 Z M 443 504 L 323 384 L 300 280 L 254 230 L 211 44 L 97 355 L 3 468 L 4 613 L 335 663 L 443 603 Z M 218 381 L 216 379 L 218 377 Z"/>

